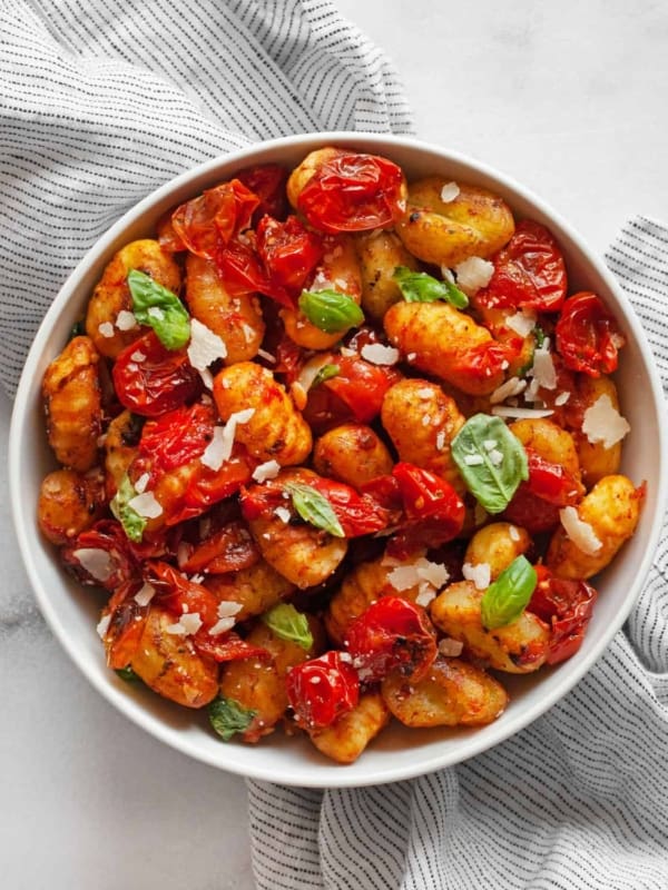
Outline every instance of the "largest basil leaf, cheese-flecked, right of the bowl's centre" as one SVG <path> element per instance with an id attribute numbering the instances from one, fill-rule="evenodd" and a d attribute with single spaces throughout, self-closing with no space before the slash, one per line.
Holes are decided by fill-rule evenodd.
<path id="1" fill-rule="evenodd" d="M 505 510 L 520 482 L 529 478 L 524 446 L 500 417 L 474 414 L 452 441 L 451 454 L 488 513 Z"/>

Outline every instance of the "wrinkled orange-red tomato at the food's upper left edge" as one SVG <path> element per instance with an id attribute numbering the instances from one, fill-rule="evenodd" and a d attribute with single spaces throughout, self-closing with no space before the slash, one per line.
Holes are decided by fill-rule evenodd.
<path id="1" fill-rule="evenodd" d="M 222 182 L 181 204 L 171 225 L 188 250 L 215 259 L 233 236 L 250 225 L 259 198 L 238 179 Z"/>

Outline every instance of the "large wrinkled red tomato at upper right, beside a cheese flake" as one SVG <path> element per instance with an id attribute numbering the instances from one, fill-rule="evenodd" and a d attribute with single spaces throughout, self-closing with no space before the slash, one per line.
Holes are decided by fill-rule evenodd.
<path id="1" fill-rule="evenodd" d="M 494 274 L 475 295 L 489 308 L 559 312 L 567 291 L 567 275 L 559 245 L 540 222 L 523 219 L 494 257 Z"/>

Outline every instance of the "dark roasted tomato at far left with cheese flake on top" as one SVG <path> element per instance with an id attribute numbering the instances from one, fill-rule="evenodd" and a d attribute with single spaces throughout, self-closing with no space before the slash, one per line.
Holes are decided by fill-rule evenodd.
<path id="1" fill-rule="evenodd" d="M 100 551 L 106 554 L 104 576 L 92 575 L 81 563 L 80 551 Z M 62 561 L 81 584 L 116 591 L 128 581 L 139 580 L 139 562 L 129 547 L 128 536 L 116 520 L 100 520 L 81 532 L 73 544 L 60 551 Z M 105 561 L 105 557 L 102 557 Z"/>

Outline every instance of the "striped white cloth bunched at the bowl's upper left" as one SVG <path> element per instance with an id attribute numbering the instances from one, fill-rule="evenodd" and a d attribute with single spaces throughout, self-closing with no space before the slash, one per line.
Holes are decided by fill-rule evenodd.
<path id="1" fill-rule="evenodd" d="M 410 132 L 384 55 L 328 0 L 0 3 L 0 380 L 87 249 L 249 141 Z"/>

